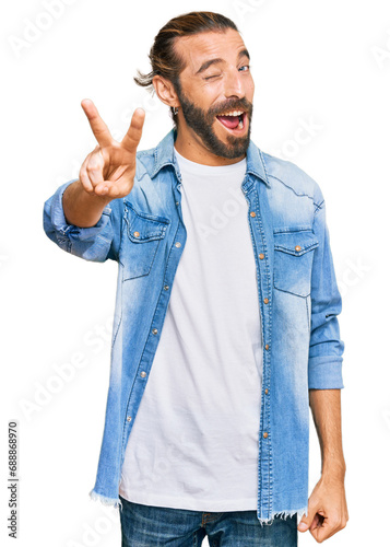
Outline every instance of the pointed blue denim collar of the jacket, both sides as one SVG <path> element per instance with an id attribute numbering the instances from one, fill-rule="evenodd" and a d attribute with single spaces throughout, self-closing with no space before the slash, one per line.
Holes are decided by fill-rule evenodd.
<path id="1" fill-rule="evenodd" d="M 154 168 L 152 173 L 152 178 L 157 175 L 157 173 L 166 165 L 173 165 L 178 175 L 178 165 L 175 160 L 174 154 L 174 143 L 176 140 L 176 129 L 173 128 L 164 139 L 154 149 Z M 267 186 L 270 186 L 267 176 L 264 158 L 261 150 L 255 144 L 252 140 L 249 142 L 247 149 L 247 171 L 246 173 L 251 173 L 260 178 Z"/>

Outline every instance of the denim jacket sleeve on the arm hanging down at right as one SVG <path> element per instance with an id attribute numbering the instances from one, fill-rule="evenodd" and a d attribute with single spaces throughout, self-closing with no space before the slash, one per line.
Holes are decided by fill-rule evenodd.
<path id="1" fill-rule="evenodd" d="M 319 245 L 315 249 L 311 272 L 308 386 L 309 389 L 338 389 L 344 387 L 342 379 L 344 342 L 340 339 L 338 321 L 342 299 L 330 248 L 326 203 L 318 186 L 316 194 L 314 232 Z"/>

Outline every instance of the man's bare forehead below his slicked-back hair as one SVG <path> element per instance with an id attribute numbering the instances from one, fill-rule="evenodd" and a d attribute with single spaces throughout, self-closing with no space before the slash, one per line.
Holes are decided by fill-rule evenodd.
<path id="1" fill-rule="evenodd" d="M 182 72 L 196 74 L 201 65 L 210 59 L 221 58 L 226 62 L 236 62 L 245 44 L 237 31 L 228 28 L 225 32 L 182 36 L 176 40 L 175 48 L 185 61 Z"/>

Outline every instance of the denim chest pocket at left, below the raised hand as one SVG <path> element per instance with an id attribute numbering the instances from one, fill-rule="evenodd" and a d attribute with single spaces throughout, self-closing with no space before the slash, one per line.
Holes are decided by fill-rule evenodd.
<path id="1" fill-rule="evenodd" d="M 125 226 L 120 263 L 123 266 L 123 281 L 147 276 L 165 237 L 169 220 L 135 211 L 125 203 Z"/>

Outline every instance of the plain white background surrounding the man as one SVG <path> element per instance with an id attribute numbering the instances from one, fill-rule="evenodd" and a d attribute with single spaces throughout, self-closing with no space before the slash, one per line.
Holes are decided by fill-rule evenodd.
<path id="1" fill-rule="evenodd" d="M 298 164 L 326 197 L 343 295 L 342 418 L 350 512 L 347 526 L 327 544 L 387 545 L 386 0 L 2 4 L 0 540 L 14 545 L 7 537 L 7 438 L 9 420 L 16 419 L 16 545 L 120 545 L 117 510 L 88 498 L 108 388 L 116 264 L 91 264 L 60 251 L 43 231 L 42 210 L 59 184 L 78 177 L 95 147 L 82 98 L 95 102 L 118 139 L 133 109 L 143 106 L 147 118 L 140 149 L 154 147 L 170 129 L 167 107 L 132 78 L 137 68 L 149 70 L 147 54 L 158 30 L 172 16 L 192 10 L 218 11 L 235 20 L 251 54 L 256 81 L 252 139 L 263 151 Z M 310 132 L 299 132 L 305 125 Z M 66 364 L 73 377 L 61 384 L 58 371 Z M 312 423 L 310 435 L 311 491 L 320 476 Z M 299 533 L 299 545 L 314 544 L 309 532 Z"/>

